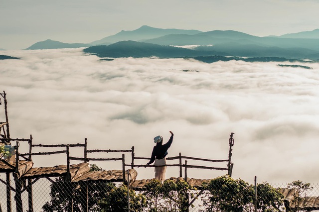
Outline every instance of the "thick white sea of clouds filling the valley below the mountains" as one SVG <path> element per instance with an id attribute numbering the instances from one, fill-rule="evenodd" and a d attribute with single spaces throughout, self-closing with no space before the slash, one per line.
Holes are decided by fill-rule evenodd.
<path id="1" fill-rule="evenodd" d="M 0 54 L 21 58 L 0 60 L 0 91 L 7 93 L 12 138 L 32 134 L 37 144 L 83 143 L 87 138 L 88 149 L 135 146 L 137 157 L 150 157 L 153 138 L 162 135 L 166 141 L 171 130 L 174 141 L 168 156 L 181 152 L 228 159 L 229 134 L 234 132 L 234 178 L 318 183 L 319 63 L 307 63 L 313 68 L 309 70 L 278 67 L 274 62 L 99 61 L 81 48 Z M 2 104 L 0 121 L 4 120 Z M 28 145 L 22 143 L 20 150 L 28 152 Z M 38 151 L 44 150 L 33 149 Z M 71 154 L 83 157 L 83 149 L 74 148 Z M 33 160 L 35 167 L 66 164 L 65 155 Z M 126 162 L 131 163 L 130 154 Z M 96 164 L 122 169 L 121 161 Z M 227 168 L 226 163 L 188 160 L 188 164 Z M 138 179 L 154 177 L 153 168 L 137 170 Z M 226 173 L 188 169 L 187 175 L 208 179 Z M 166 177 L 178 175 L 177 167 L 168 168 Z"/>

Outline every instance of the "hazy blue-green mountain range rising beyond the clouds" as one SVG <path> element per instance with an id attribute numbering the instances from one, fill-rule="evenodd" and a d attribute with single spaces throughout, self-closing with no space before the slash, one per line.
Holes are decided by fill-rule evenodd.
<path id="1" fill-rule="evenodd" d="M 147 45 L 147 43 L 155 46 Z M 97 47 L 98 45 L 102 46 Z M 193 45 L 193 48 L 187 49 L 186 45 Z M 173 46 L 185 48 L 176 49 L 172 48 Z M 27 49 L 79 47 L 89 47 L 84 50 L 86 53 L 113 58 L 147 57 L 150 55 L 157 57 L 221 55 L 319 60 L 319 29 L 281 36 L 259 37 L 233 30 L 202 32 L 142 26 L 132 31 L 122 30 L 115 35 L 87 44 L 45 40 L 37 42 Z"/>

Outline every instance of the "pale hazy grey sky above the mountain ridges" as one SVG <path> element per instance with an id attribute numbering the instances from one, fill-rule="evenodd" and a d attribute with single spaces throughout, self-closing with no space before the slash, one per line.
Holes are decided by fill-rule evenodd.
<path id="1" fill-rule="evenodd" d="M 282 35 L 319 28 L 318 8 L 319 0 L 0 0 L 0 48 L 89 43 L 142 25 Z"/>

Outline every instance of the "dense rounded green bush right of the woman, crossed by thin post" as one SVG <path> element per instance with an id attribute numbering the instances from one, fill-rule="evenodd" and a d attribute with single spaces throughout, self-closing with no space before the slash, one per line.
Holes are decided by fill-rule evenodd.
<path id="1" fill-rule="evenodd" d="M 217 177 L 203 185 L 207 191 L 202 196 L 205 212 L 249 212 L 254 209 L 254 186 L 227 175 Z M 283 205 L 283 195 L 268 183 L 257 185 L 257 211 L 278 212 Z"/>

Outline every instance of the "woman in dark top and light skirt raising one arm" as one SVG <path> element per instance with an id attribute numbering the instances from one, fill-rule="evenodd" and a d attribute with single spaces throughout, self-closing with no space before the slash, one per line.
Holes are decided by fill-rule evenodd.
<path id="1" fill-rule="evenodd" d="M 173 142 L 173 136 L 174 134 L 169 131 L 170 138 L 167 141 L 167 143 L 163 144 L 163 137 L 162 136 L 156 136 L 154 138 L 154 143 L 156 145 L 153 148 L 152 156 L 150 162 L 147 163 L 147 165 L 152 164 L 154 161 L 154 165 L 158 166 L 155 167 L 155 179 L 159 180 L 161 183 L 165 180 L 165 172 L 166 172 L 166 155 L 167 149 L 170 147 L 171 143 Z"/>

